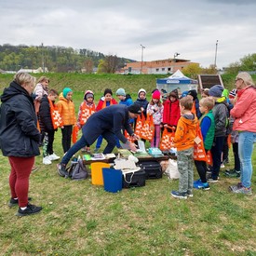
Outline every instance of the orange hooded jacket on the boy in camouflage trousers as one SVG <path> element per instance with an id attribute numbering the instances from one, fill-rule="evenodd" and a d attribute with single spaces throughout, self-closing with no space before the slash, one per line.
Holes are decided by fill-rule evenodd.
<path id="1" fill-rule="evenodd" d="M 198 119 L 194 114 L 192 116 L 193 119 L 188 119 L 186 115 L 182 115 L 179 119 L 174 136 L 174 143 L 177 147 L 177 151 L 194 147 Z"/>

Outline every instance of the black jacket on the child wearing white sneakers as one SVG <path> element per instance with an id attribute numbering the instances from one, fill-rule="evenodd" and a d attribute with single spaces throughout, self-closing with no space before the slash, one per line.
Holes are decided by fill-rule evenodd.
<path id="1" fill-rule="evenodd" d="M 39 125 L 42 131 L 53 130 L 49 100 L 47 95 L 43 96 L 39 107 Z"/>

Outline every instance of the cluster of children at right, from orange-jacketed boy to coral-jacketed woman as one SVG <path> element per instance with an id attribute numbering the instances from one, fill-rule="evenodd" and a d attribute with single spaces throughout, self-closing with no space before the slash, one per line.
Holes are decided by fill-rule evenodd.
<path id="1" fill-rule="evenodd" d="M 240 162 L 238 157 L 237 137 L 238 132 L 232 129 L 233 118 L 229 115 L 236 97 L 236 89 L 229 95 L 223 95 L 222 86 L 216 85 L 202 93 L 199 101 L 199 111 L 202 115 L 199 119 L 193 117 L 192 99 L 188 97 L 180 101 L 182 117 L 180 118 L 175 133 L 174 142 L 177 147 L 177 164 L 181 174 L 179 189 L 172 191 L 171 195 L 186 199 L 193 196 L 192 188 L 209 190 L 209 182 L 218 182 L 220 168 L 223 160 L 223 148 L 225 141 L 231 133 L 233 152 L 235 156 L 235 168 L 226 170 L 227 176 L 239 177 Z M 204 143 L 205 154 L 212 155 L 212 165 L 206 160 L 195 160 L 193 149 L 198 139 L 198 125 Z M 193 162 L 197 169 L 199 179 L 194 182 Z M 207 174 L 209 173 L 209 177 Z"/>

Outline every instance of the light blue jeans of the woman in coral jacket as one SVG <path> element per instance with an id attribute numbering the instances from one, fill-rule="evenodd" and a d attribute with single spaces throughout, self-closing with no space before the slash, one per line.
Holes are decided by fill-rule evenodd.
<path id="1" fill-rule="evenodd" d="M 238 138 L 238 155 L 240 159 L 241 182 L 244 187 L 249 188 L 251 184 L 252 165 L 251 155 L 253 141 L 256 140 L 256 132 L 241 131 Z"/>

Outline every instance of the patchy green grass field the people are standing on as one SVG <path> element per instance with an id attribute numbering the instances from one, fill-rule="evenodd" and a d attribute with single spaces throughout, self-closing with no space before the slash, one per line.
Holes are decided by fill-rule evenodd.
<path id="1" fill-rule="evenodd" d="M 74 94 L 76 107 L 81 99 L 82 92 Z M 63 155 L 60 129 L 54 149 Z M 209 191 L 194 190 L 194 197 L 177 200 L 170 191 L 178 181 L 166 176 L 111 194 L 90 178 L 61 178 L 57 163 L 43 166 L 42 155 L 36 157 L 40 168 L 31 175 L 29 195 L 43 210 L 19 218 L 18 208 L 7 206 L 10 168 L 0 155 L 0 255 L 256 255 L 255 172 L 251 196 L 231 194 L 228 186 L 238 180 L 222 171 Z M 227 168 L 232 163 L 230 154 Z"/>

